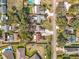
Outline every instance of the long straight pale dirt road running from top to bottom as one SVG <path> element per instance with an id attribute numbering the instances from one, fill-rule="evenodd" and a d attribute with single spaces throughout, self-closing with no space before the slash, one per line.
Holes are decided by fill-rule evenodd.
<path id="1" fill-rule="evenodd" d="M 51 54 L 51 59 L 57 59 L 57 54 L 56 54 L 56 40 L 57 40 L 57 35 L 56 35 L 56 0 L 51 0 L 52 2 L 52 12 L 54 13 L 54 15 L 51 17 L 52 20 L 52 31 L 54 33 L 54 35 L 52 36 L 52 54 Z"/>

